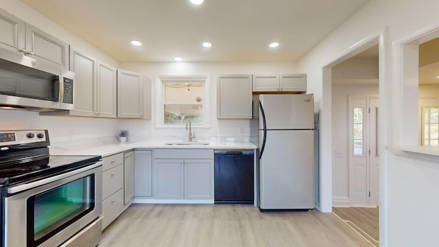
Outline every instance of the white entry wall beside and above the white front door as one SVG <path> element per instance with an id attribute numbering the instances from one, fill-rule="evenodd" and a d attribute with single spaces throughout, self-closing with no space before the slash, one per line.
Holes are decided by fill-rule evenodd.
<path id="1" fill-rule="evenodd" d="M 332 86 L 333 206 L 348 206 L 348 96 L 378 95 L 378 85 Z M 340 155 L 335 156 L 335 152 Z"/>

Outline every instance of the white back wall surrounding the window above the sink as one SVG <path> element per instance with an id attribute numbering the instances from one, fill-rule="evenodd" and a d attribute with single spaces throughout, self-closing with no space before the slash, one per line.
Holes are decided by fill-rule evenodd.
<path id="1" fill-rule="evenodd" d="M 220 119 L 216 118 L 217 111 L 217 77 L 221 74 L 252 74 L 252 73 L 301 73 L 297 70 L 295 62 L 126 62 L 121 63 L 121 68 L 137 71 L 153 79 L 153 119 L 156 117 L 156 107 L 160 95 L 157 95 L 157 87 L 160 83 L 155 79 L 156 75 L 208 75 L 210 95 L 205 99 L 209 102 L 211 109 L 210 123 L 207 128 L 193 126 L 195 139 L 225 141 L 227 137 L 234 137 L 235 141 L 250 140 L 250 121 L 240 119 Z M 124 120 L 123 128 L 129 129 L 146 139 L 185 139 L 187 130 L 184 128 L 158 128 L 155 121 L 145 120 Z"/>

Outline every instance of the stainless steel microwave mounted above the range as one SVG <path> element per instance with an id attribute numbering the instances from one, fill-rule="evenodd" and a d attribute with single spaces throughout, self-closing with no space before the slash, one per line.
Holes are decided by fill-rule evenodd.
<path id="1" fill-rule="evenodd" d="M 71 71 L 0 48 L 0 108 L 73 110 Z"/>

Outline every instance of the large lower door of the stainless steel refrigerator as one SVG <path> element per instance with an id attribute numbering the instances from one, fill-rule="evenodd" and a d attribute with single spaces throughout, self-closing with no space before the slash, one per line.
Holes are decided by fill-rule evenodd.
<path id="1" fill-rule="evenodd" d="M 261 209 L 313 209 L 314 131 L 268 130 L 259 183 Z"/>

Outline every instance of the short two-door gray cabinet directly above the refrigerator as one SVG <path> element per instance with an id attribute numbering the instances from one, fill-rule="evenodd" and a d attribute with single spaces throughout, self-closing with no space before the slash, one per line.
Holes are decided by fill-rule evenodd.
<path id="1" fill-rule="evenodd" d="M 253 75 L 253 92 L 306 92 L 306 74 Z"/>

